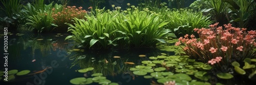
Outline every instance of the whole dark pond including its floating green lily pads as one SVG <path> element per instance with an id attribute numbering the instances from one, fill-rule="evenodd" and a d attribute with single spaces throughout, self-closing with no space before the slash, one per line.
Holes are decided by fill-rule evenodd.
<path id="1" fill-rule="evenodd" d="M 241 79 L 239 76 L 235 76 L 234 79 L 230 80 L 219 79 L 211 74 L 203 76 L 206 72 L 212 72 L 212 70 L 209 70 L 211 68 L 210 65 L 187 59 L 186 55 L 184 57 L 177 56 L 177 53 L 182 53 L 182 51 L 179 52 L 178 50 L 177 52 L 176 50 L 176 52 L 173 52 L 173 49 L 161 47 L 164 45 L 157 47 L 159 49 L 89 50 L 77 49 L 74 47 L 73 41 L 65 41 L 69 34 L 9 34 L 8 78 L 10 80 L 6 82 L 1 79 L 0 82 L 4 84 L 72 84 L 72 79 L 77 77 L 87 78 L 87 81 L 91 79 L 92 83 L 90 84 L 104 84 L 110 81 L 114 82 L 112 84 L 162 84 L 165 81 L 169 81 L 163 77 L 172 78 L 176 81 L 176 84 L 185 84 L 187 82 L 189 84 L 215 84 L 216 82 L 224 84 L 253 83 L 239 80 Z M 3 40 L 3 37 L 1 37 L 1 40 Z M 172 48 L 172 46 L 169 47 Z M 189 63 L 184 63 L 184 61 Z M 194 66 L 192 66 L 192 63 Z M 1 64 L 4 64 L 4 61 L 1 61 Z M 5 68 L 3 65 L 1 65 L 1 71 L 5 71 L 2 68 Z M 200 68 L 203 70 L 198 70 Z M 10 72 L 11 70 L 13 73 Z M 15 72 L 14 70 L 17 71 Z M 30 72 L 26 73 L 26 75 L 17 73 L 23 70 L 29 70 Z M 192 74 L 195 74 L 195 76 L 196 74 L 203 75 L 195 77 Z M 103 77 L 103 81 L 95 80 L 95 76 L 97 77 L 98 75 Z M 203 81 L 204 79 L 206 80 Z M 232 80 L 239 81 L 232 82 Z"/>

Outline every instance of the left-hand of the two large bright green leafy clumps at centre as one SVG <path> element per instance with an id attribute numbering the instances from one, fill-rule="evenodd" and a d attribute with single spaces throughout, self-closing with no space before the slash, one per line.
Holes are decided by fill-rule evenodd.
<path id="1" fill-rule="evenodd" d="M 87 20 L 74 18 L 74 25 L 67 23 L 70 26 L 68 32 L 73 36 L 68 36 L 66 39 L 72 38 L 86 48 L 106 49 L 111 45 L 117 45 L 115 41 L 122 36 L 114 36 L 117 26 L 113 22 L 115 14 L 112 13 L 96 9 L 96 15 L 87 15 Z"/>

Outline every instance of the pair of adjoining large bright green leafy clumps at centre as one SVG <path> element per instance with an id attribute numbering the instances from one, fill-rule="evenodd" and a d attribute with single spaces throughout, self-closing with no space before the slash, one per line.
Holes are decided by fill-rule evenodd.
<path id="1" fill-rule="evenodd" d="M 114 46 L 131 46 L 136 48 L 154 47 L 157 42 L 170 32 L 163 29 L 168 22 L 163 21 L 158 14 L 148 11 L 125 10 L 115 11 L 96 9 L 95 16 L 87 15 L 87 20 L 75 18 L 74 25 L 69 30 L 72 38 L 84 47 L 109 48 Z M 139 17 L 138 17 L 139 16 Z"/>

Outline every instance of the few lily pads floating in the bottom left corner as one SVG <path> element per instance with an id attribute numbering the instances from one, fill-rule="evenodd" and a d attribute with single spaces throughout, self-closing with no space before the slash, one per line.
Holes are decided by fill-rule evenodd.
<path id="1" fill-rule="evenodd" d="M 15 79 L 15 76 L 22 76 L 22 75 L 27 75 L 30 73 L 30 70 L 23 70 L 23 71 L 18 71 L 16 69 L 13 69 L 13 70 L 9 70 L 8 71 L 8 81 L 12 81 Z M 16 74 L 16 75 L 15 75 Z M 5 73 L 4 71 L 0 71 L 0 80 L 4 79 L 2 76 L 4 76 Z M 4 80 L 6 81 L 6 80 Z"/>

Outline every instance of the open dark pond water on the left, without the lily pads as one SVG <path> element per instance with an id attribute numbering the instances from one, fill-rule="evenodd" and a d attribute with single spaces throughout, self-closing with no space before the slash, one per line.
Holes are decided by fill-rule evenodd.
<path id="1" fill-rule="evenodd" d="M 136 76 L 129 70 L 130 67 L 141 65 L 141 61 L 149 60 L 148 57 L 159 55 L 157 49 L 112 49 L 112 50 L 84 50 L 69 52 L 73 49 L 72 41 L 64 40 L 68 34 L 16 34 L 8 36 L 8 70 L 30 70 L 30 73 L 44 70 L 42 73 L 15 76 L 11 82 L 4 84 L 71 84 L 70 79 L 83 77 L 84 73 L 76 70 L 94 67 L 93 71 L 87 72 L 87 78 L 93 73 L 103 73 L 107 79 L 119 84 L 150 84 L 151 79 Z M 37 40 L 44 39 L 44 40 Z M 3 37 L 1 37 L 3 40 Z M 54 45 L 56 44 L 57 45 Z M 1 43 L 3 44 L 3 42 Z M 167 52 L 166 52 L 167 53 Z M 1 55 L 3 52 L 1 52 Z M 145 58 L 138 55 L 145 54 Z M 86 56 L 79 59 L 79 56 Z M 113 56 L 121 56 L 114 59 Z M 104 60 L 109 63 L 105 63 Z M 32 60 L 36 60 L 32 62 Z M 135 65 L 126 65 L 124 62 L 134 62 Z M 4 61 L 1 59 L 1 64 Z M 1 70 L 4 70 L 1 65 Z M 134 78 L 134 79 L 133 79 Z M 98 84 L 98 83 L 92 83 Z"/>

